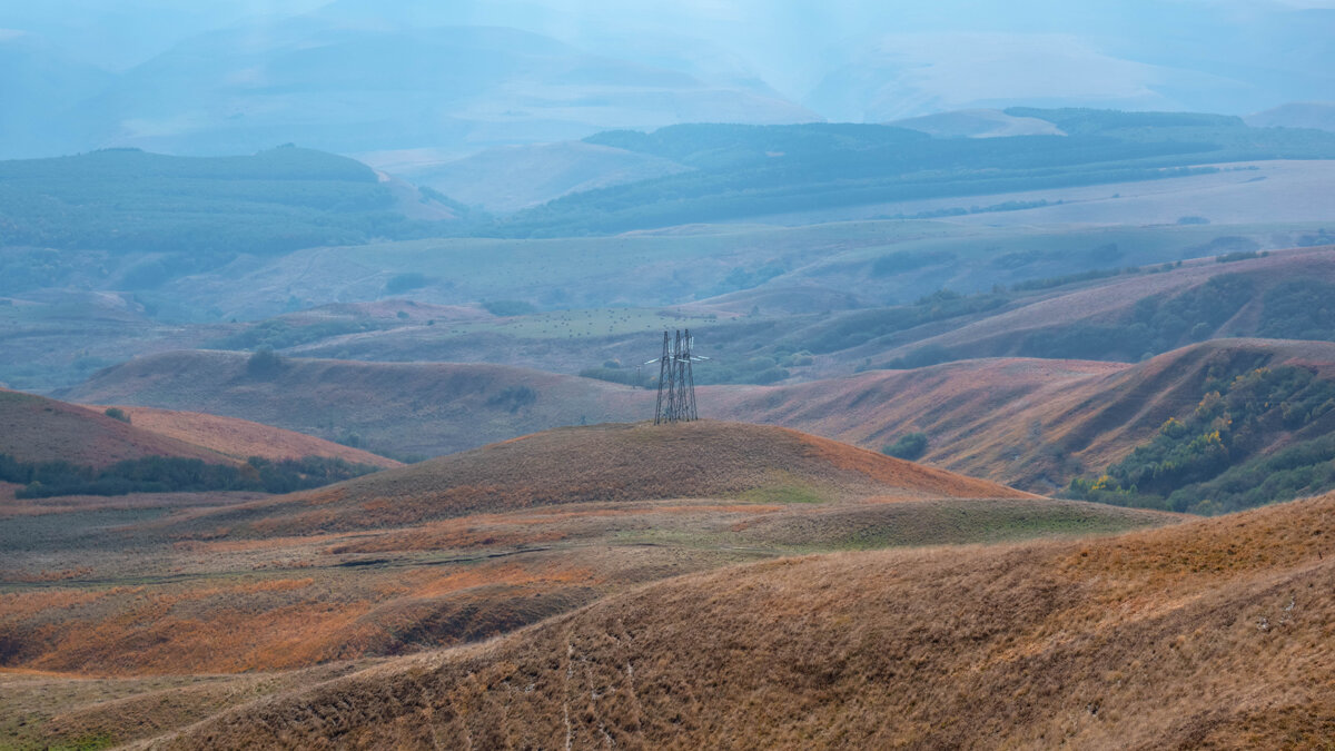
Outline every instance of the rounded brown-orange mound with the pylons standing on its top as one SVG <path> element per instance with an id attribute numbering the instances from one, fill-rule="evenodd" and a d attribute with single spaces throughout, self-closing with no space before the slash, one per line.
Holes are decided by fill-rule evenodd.
<path id="1" fill-rule="evenodd" d="M 784 428 L 641 422 L 525 436 L 260 501 L 236 509 L 228 524 L 236 535 L 310 535 L 533 506 L 744 496 L 810 502 L 1029 497 Z M 258 518 L 247 520 L 251 514 Z"/>

